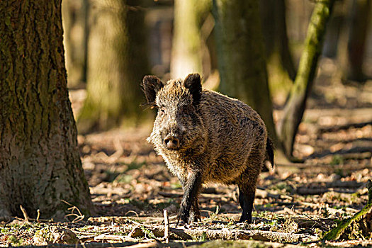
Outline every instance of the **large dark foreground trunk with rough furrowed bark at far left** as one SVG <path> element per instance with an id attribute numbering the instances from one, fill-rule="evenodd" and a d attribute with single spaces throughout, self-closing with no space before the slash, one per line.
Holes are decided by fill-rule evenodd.
<path id="1" fill-rule="evenodd" d="M 61 1 L 0 1 L 0 217 L 92 210 L 62 33 Z"/>

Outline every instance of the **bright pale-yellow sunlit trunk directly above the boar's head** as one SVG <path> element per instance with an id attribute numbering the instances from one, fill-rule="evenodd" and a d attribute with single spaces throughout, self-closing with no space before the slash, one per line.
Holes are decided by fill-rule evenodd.
<path id="1" fill-rule="evenodd" d="M 171 50 L 171 77 L 203 74 L 201 19 L 210 9 L 207 0 L 174 1 L 174 35 Z"/>

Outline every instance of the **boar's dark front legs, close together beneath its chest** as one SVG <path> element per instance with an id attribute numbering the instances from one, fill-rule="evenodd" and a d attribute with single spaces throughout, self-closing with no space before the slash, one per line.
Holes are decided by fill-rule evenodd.
<path id="1" fill-rule="evenodd" d="M 184 198 L 181 201 L 178 219 L 185 223 L 197 221 L 200 219 L 198 193 L 201 188 L 201 173 L 192 171 L 188 174 L 187 179 L 180 179 L 180 181 L 182 188 L 184 188 Z"/>

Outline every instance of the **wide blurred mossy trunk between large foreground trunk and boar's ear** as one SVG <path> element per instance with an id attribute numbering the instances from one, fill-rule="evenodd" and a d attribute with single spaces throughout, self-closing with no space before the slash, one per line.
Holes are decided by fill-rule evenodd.
<path id="1" fill-rule="evenodd" d="M 81 133 L 136 124 L 143 111 L 140 82 L 148 73 L 142 1 L 91 4 L 87 97 L 78 117 Z"/>

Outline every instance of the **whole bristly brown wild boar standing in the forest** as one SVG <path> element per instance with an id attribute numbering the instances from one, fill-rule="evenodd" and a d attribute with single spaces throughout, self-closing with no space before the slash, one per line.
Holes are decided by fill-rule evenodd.
<path id="1" fill-rule="evenodd" d="M 203 184 L 239 186 L 240 221 L 252 221 L 257 179 L 274 152 L 266 126 L 247 104 L 202 89 L 199 74 L 162 83 L 147 76 L 147 102 L 159 108 L 149 142 L 184 188 L 179 219 L 200 218 L 197 195 Z"/>

